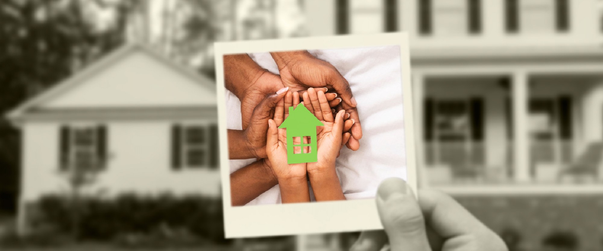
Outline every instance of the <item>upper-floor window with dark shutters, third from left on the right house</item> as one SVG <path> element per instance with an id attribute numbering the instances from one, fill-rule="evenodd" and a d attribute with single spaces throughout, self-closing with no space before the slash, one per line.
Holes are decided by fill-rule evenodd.
<path id="1" fill-rule="evenodd" d="M 508 33 L 567 31 L 570 26 L 568 0 L 505 0 Z"/>

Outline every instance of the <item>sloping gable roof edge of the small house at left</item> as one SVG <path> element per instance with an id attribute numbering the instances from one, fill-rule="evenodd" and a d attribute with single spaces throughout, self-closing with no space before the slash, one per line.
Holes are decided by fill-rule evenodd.
<path id="1" fill-rule="evenodd" d="M 46 102 L 54 100 L 55 98 L 66 94 L 75 87 L 78 87 L 81 84 L 85 83 L 88 78 L 95 76 L 99 72 L 103 72 L 106 69 L 109 69 L 111 66 L 121 62 L 122 60 L 125 60 L 127 56 L 130 56 L 135 52 L 142 52 L 144 55 L 155 59 L 154 61 L 166 66 L 166 68 L 170 69 L 171 71 L 177 72 L 177 74 L 181 75 L 184 78 L 188 78 L 189 80 L 191 80 L 190 82 L 198 84 L 204 89 L 207 89 L 209 92 L 211 92 L 212 95 L 215 94 L 215 81 L 213 81 L 212 79 L 198 74 L 193 69 L 188 68 L 187 66 L 178 65 L 174 61 L 163 56 L 162 54 L 159 54 L 159 52 L 155 51 L 153 48 L 150 48 L 145 45 L 140 45 L 138 43 L 128 43 L 118 49 L 115 49 L 115 51 L 110 52 L 106 56 L 101 57 L 96 62 L 93 62 L 85 68 L 79 70 L 71 77 L 66 78 L 66 80 L 55 84 L 54 86 L 50 87 L 46 91 L 43 91 L 39 95 L 36 95 L 35 97 L 25 101 L 21 105 L 17 106 L 15 109 L 8 112 L 6 115 L 7 118 L 10 119 L 10 121 L 13 121 L 14 123 L 14 121 L 22 118 L 27 113 L 36 111 L 39 106 L 42 106 Z M 215 104 L 212 104 L 212 106 L 215 107 Z"/>

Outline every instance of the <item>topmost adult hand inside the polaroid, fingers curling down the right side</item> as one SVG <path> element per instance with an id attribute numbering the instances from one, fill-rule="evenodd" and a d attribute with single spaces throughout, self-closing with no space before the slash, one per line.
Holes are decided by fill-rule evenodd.
<path id="1" fill-rule="evenodd" d="M 347 113 L 354 119 L 352 127 L 353 144 L 347 144 L 352 150 L 360 147 L 358 140 L 362 138 L 362 127 L 356 110 L 356 99 L 352 95 L 352 89 L 335 66 L 323 60 L 317 59 L 308 51 L 271 52 L 274 62 L 279 66 L 280 79 L 284 86 L 291 87 L 291 91 L 302 91 L 308 87 L 327 87 L 334 89 L 346 104 Z"/>

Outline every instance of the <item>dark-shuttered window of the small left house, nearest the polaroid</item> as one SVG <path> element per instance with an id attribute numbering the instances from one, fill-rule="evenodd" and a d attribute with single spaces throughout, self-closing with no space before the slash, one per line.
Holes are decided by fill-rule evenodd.
<path id="1" fill-rule="evenodd" d="M 172 127 L 172 168 L 217 168 L 218 127 L 180 125 Z"/>

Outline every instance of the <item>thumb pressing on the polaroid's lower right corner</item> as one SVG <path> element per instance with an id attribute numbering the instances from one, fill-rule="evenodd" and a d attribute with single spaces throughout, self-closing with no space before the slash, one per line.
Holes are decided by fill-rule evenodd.
<path id="1" fill-rule="evenodd" d="M 392 251 L 431 251 L 423 213 L 404 180 L 394 177 L 381 182 L 376 200 Z"/>

